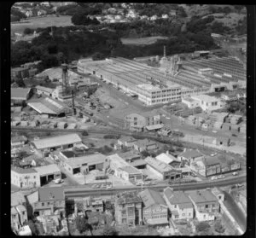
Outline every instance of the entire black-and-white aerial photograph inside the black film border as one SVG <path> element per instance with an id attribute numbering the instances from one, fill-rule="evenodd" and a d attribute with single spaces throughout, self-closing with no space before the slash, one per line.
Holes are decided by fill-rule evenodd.
<path id="1" fill-rule="evenodd" d="M 15 235 L 247 231 L 247 8 L 10 10 Z"/>

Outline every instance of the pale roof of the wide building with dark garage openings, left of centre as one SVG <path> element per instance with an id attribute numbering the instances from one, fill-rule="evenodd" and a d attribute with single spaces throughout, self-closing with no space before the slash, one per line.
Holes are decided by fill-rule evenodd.
<path id="1" fill-rule="evenodd" d="M 90 154 L 90 155 L 86 155 L 86 156 L 68 159 L 65 161 L 65 163 L 72 167 L 78 167 L 83 164 L 96 165 L 96 164 L 104 163 L 106 161 L 106 159 L 107 159 L 107 157 L 105 155 L 96 153 L 96 154 Z"/>

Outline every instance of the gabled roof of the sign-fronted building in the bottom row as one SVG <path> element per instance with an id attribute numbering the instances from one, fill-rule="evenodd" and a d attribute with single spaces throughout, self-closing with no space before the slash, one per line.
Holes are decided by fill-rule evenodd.
<path id="1" fill-rule="evenodd" d="M 153 189 L 145 189 L 143 192 L 139 193 L 139 195 L 146 208 L 152 205 L 166 206 L 166 201 L 161 194 Z"/>

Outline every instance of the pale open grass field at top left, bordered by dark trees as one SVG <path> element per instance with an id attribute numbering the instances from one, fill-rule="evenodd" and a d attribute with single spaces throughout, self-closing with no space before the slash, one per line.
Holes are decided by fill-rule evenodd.
<path id="1" fill-rule="evenodd" d="M 48 15 L 45 17 L 20 20 L 20 23 L 11 23 L 11 33 L 22 33 L 24 29 L 37 29 L 38 27 L 48 26 L 73 26 L 70 15 L 61 15 L 59 17 Z"/>

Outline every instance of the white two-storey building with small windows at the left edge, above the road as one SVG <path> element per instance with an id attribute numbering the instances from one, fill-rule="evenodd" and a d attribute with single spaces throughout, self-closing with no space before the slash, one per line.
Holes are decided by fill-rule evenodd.
<path id="1" fill-rule="evenodd" d="M 21 188 L 40 187 L 40 177 L 38 171 L 34 169 L 21 169 L 19 167 L 11 168 L 11 184 Z"/>

